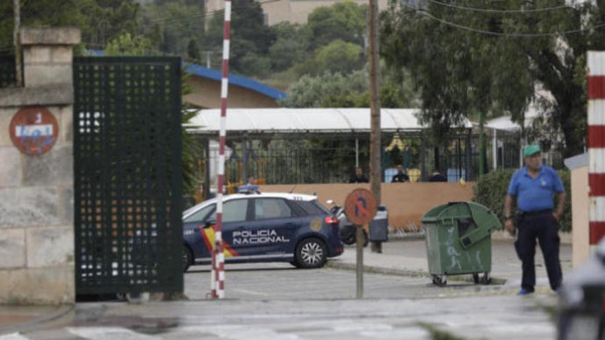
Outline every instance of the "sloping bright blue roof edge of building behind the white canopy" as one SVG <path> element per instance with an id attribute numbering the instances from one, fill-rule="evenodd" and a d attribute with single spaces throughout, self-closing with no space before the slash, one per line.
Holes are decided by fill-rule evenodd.
<path id="1" fill-rule="evenodd" d="M 90 49 L 89 54 L 91 56 L 102 56 L 103 52 L 99 49 Z M 203 78 L 208 78 L 211 80 L 216 80 L 220 82 L 222 79 L 221 71 L 216 69 L 208 69 L 207 67 L 203 67 L 197 64 L 191 63 L 183 63 L 183 66 L 187 66 L 185 70 L 186 73 L 195 74 L 196 76 L 200 76 Z M 273 98 L 274 100 L 278 100 L 281 98 L 286 98 L 286 93 L 283 91 L 279 91 L 273 87 L 267 86 L 261 82 L 257 82 L 256 80 L 252 80 L 250 78 L 237 76 L 235 74 L 229 74 L 229 84 L 235 85 L 239 87 L 243 87 L 244 89 L 250 89 L 252 91 L 256 91 L 263 95 L 266 95 L 269 98 Z"/>

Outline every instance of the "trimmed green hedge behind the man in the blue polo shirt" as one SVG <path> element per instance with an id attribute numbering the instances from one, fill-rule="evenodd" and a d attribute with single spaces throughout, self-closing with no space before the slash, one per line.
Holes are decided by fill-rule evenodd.
<path id="1" fill-rule="evenodd" d="M 504 224 L 504 199 L 508 190 L 510 179 L 515 170 L 498 170 L 485 174 L 478 179 L 474 188 L 473 201 L 485 205 L 491 209 Z M 562 231 L 571 231 L 571 185 L 569 171 L 558 172 L 567 192 L 564 216 L 559 226 Z M 556 203 L 555 203 L 556 204 Z M 515 208 L 515 207 L 513 207 Z"/>

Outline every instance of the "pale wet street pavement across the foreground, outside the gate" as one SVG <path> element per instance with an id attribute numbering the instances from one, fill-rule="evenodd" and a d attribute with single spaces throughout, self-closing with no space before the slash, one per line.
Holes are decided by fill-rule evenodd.
<path id="1" fill-rule="evenodd" d="M 0 335 L 0 340 L 298 340 L 298 339 L 553 339 L 544 306 L 555 299 L 479 296 L 439 299 L 226 300 L 80 304 L 67 326 Z"/>

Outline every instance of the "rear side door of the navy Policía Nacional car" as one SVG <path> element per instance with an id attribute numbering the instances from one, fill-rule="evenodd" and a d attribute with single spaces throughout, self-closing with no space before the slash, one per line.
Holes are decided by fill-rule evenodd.
<path id="1" fill-rule="evenodd" d="M 290 244 L 296 231 L 293 214 L 284 199 L 253 199 L 248 232 L 239 234 L 234 231 L 234 244 L 258 260 L 279 260 L 292 256 Z M 237 240 L 237 236 L 241 238 Z"/>

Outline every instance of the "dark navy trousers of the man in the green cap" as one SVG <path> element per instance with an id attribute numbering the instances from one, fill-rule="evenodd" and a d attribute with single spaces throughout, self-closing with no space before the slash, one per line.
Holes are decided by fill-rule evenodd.
<path id="1" fill-rule="evenodd" d="M 517 229 L 515 249 L 523 267 L 521 287 L 533 291 L 533 286 L 536 286 L 536 266 L 533 258 L 536 255 L 536 239 L 538 239 L 551 288 L 556 291 L 563 280 L 559 262 L 560 239 L 557 221 L 550 213 L 522 216 L 517 222 Z"/>

